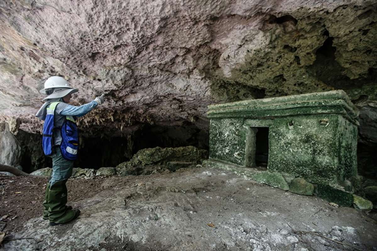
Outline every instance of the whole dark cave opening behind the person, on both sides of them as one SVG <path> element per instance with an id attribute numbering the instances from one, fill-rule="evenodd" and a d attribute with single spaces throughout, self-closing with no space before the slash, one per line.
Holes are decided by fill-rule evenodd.
<path id="1" fill-rule="evenodd" d="M 40 168 L 51 167 L 51 158 L 44 156 L 41 136 L 21 131 L 17 135 L 22 146 L 21 166 L 31 173 Z M 145 125 L 132 135 L 115 137 L 81 137 L 78 159 L 74 167 L 115 167 L 128 161 L 141 149 L 153 147 L 195 146 L 208 150 L 208 131 L 199 129 L 191 122 L 180 126 Z"/>

